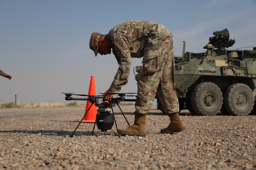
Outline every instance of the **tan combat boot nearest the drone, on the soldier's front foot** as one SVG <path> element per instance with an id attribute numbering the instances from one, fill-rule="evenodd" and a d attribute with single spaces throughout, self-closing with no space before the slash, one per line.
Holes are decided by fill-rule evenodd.
<path id="1" fill-rule="evenodd" d="M 146 115 L 135 113 L 134 124 L 126 129 L 118 129 L 121 135 L 146 136 L 147 129 L 145 126 Z"/>

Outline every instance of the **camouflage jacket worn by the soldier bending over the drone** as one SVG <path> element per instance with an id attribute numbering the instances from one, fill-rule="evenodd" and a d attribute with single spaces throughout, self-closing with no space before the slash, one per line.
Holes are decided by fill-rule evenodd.
<path id="1" fill-rule="evenodd" d="M 127 84 L 131 68 L 131 57 L 143 57 L 143 63 L 161 56 L 162 48 L 157 43 L 167 36 L 171 36 L 170 31 L 163 25 L 152 21 L 131 20 L 111 29 L 106 38 L 112 42 L 112 51 L 118 61 L 119 68 L 110 90 L 120 91 L 121 87 Z"/>

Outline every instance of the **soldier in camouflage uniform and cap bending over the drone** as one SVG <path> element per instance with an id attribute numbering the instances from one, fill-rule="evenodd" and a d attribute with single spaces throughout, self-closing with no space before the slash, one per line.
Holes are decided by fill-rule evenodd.
<path id="1" fill-rule="evenodd" d="M 138 77 L 138 94 L 135 102 L 134 124 L 119 129 L 121 135 L 147 135 L 146 115 L 151 109 L 156 92 L 165 112 L 170 118 L 167 128 L 161 133 L 172 134 L 185 129 L 179 118 L 179 102 L 174 82 L 173 38 L 163 25 L 152 21 L 128 21 L 111 29 L 103 35 L 93 32 L 90 49 L 97 54 L 111 53 L 111 48 L 119 68 L 110 88 L 105 91 L 104 100 L 111 101 L 115 91 L 126 85 L 131 68 L 131 57 L 142 58 L 142 73 Z M 112 67 L 112 66 L 111 66 Z"/>

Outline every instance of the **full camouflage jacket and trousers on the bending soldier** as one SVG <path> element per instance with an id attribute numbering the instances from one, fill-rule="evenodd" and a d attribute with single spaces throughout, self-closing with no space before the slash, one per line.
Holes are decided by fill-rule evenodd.
<path id="1" fill-rule="evenodd" d="M 128 82 L 131 57 L 143 57 L 143 70 L 138 81 L 139 94 L 134 113 L 147 115 L 156 92 L 167 114 L 178 112 L 171 32 L 152 21 L 131 20 L 111 29 L 106 38 L 112 43 L 112 51 L 119 64 L 109 89 L 120 91 Z"/>

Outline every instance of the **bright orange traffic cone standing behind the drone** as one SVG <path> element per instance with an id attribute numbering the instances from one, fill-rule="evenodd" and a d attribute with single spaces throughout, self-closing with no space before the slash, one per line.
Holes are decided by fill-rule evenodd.
<path id="1" fill-rule="evenodd" d="M 95 96 L 96 95 L 94 76 L 93 75 L 91 76 L 91 82 L 90 82 L 90 87 L 89 87 L 88 95 L 90 95 L 90 96 Z M 89 96 L 88 96 L 88 98 L 89 98 Z M 90 101 L 87 101 L 86 109 L 85 109 L 85 113 L 84 114 L 86 114 L 86 112 L 88 111 L 88 109 L 91 106 L 91 104 L 92 103 Z M 88 113 L 85 115 L 85 117 L 82 120 L 82 122 L 84 122 L 84 123 L 95 123 L 96 114 L 97 114 L 97 107 L 93 104 L 91 106 L 90 110 L 88 111 Z"/>

